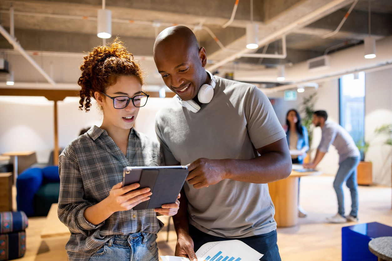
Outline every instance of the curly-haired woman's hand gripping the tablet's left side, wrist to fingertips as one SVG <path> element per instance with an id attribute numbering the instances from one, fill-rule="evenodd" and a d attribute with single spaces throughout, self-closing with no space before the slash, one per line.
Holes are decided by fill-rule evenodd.
<path id="1" fill-rule="evenodd" d="M 149 196 L 152 195 L 150 188 L 137 189 L 138 187 L 140 187 L 139 183 L 123 187 L 122 182 L 112 187 L 106 199 L 109 201 L 113 213 L 132 209 L 139 203 L 150 199 Z"/>

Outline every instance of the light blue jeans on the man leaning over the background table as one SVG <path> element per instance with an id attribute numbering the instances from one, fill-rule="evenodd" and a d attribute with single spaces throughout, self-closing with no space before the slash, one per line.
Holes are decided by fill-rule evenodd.
<path id="1" fill-rule="evenodd" d="M 350 215 L 356 217 L 358 214 L 358 184 L 357 166 L 359 157 L 348 157 L 339 164 L 338 173 L 334 180 L 334 189 L 338 197 L 338 213 L 344 216 L 344 195 L 343 183 L 346 182 L 351 193 L 351 212 Z"/>

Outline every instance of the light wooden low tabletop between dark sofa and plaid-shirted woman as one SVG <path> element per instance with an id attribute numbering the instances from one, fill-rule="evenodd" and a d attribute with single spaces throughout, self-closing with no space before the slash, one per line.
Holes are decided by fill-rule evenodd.
<path id="1" fill-rule="evenodd" d="M 58 219 L 57 203 L 54 203 L 46 216 L 45 227 L 41 231 L 41 238 L 52 238 L 56 236 L 71 236 L 71 232 Z"/>

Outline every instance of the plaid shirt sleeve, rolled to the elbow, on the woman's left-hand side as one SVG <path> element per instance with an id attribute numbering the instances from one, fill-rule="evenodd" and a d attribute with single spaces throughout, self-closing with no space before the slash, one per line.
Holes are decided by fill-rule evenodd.
<path id="1" fill-rule="evenodd" d="M 60 175 L 58 218 L 71 233 L 89 236 L 89 231 L 101 227 L 105 221 L 93 225 L 84 218 L 85 209 L 93 203 L 85 200 L 83 180 L 72 148 L 68 147 L 60 155 L 58 171 Z"/>

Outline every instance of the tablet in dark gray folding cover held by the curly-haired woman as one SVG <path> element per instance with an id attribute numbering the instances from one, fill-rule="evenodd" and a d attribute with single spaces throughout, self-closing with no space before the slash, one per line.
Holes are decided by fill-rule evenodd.
<path id="1" fill-rule="evenodd" d="M 138 189 L 149 187 L 152 195 L 132 210 L 156 209 L 175 203 L 189 173 L 187 166 L 125 167 L 123 186 L 139 183 Z"/>

